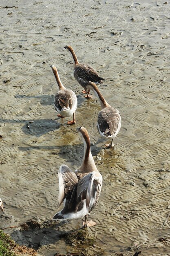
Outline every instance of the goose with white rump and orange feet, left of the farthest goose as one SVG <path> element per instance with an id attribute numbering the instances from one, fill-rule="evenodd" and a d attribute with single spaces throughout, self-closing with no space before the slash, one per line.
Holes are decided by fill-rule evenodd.
<path id="1" fill-rule="evenodd" d="M 68 90 L 62 84 L 57 68 L 54 65 L 50 66 L 57 81 L 59 91 L 55 94 L 54 108 L 59 113 L 58 117 L 71 117 L 73 121 L 68 121 L 67 124 L 75 124 L 75 110 L 77 109 L 77 97 L 72 90 Z"/>

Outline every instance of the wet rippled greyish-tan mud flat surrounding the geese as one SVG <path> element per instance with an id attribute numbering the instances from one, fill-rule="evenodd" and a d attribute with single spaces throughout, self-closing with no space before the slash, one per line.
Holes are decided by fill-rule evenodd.
<path id="1" fill-rule="evenodd" d="M 89 217 L 97 225 L 88 229 L 100 255 L 170 255 L 170 225 L 163 226 L 170 213 L 170 3 L 14 2 L 1 0 L 0 7 L 0 227 L 52 218 L 57 170 L 63 163 L 80 166 L 83 145 L 75 128 L 85 126 L 94 157 L 102 158 L 97 167 L 104 184 Z M 73 60 L 63 48 L 68 44 L 106 79 L 100 90 L 121 112 L 115 150 L 102 149 L 100 106 L 95 97 L 86 100 L 73 79 Z M 53 108 L 57 84 L 50 65 L 78 96 L 74 126 Z M 81 225 L 71 221 L 60 232 Z M 57 229 L 6 231 L 18 243 L 40 246 L 42 255 L 75 250 Z"/>

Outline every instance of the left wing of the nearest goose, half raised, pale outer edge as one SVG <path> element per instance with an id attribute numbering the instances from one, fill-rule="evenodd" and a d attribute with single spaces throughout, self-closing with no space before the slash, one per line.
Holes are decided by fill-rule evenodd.
<path id="1" fill-rule="evenodd" d="M 58 207 L 60 207 L 66 195 L 71 191 L 73 191 L 75 185 L 78 182 L 78 179 L 76 174 L 65 164 L 63 164 L 59 168 L 58 179 L 59 179 Z"/>

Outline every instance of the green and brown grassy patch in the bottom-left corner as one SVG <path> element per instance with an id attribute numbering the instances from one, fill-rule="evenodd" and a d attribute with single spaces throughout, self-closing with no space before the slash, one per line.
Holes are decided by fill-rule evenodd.
<path id="1" fill-rule="evenodd" d="M 36 256 L 34 249 L 16 244 L 9 235 L 0 230 L 0 256 Z"/>

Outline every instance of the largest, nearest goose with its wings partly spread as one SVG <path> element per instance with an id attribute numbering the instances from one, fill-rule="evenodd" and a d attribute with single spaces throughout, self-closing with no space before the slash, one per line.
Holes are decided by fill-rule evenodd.
<path id="1" fill-rule="evenodd" d="M 60 166 L 58 207 L 63 201 L 64 207 L 54 215 L 53 220 L 85 218 L 84 227 L 87 227 L 88 213 L 97 204 L 102 189 L 102 175 L 95 166 L 86 128 L 80 127 L 78 131 L 84 143 L 82 165 L 75 172 L 65 164 Z"/>

